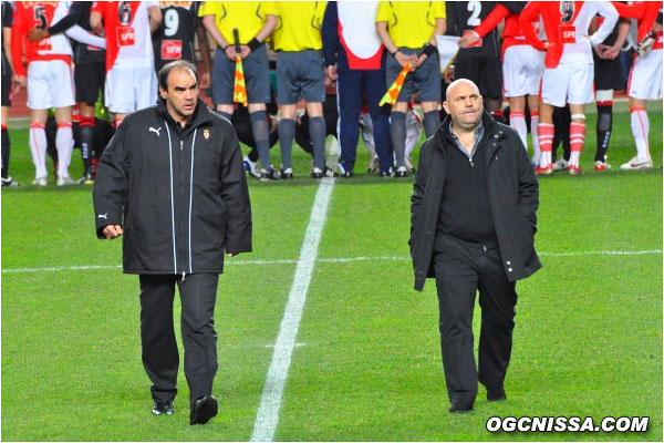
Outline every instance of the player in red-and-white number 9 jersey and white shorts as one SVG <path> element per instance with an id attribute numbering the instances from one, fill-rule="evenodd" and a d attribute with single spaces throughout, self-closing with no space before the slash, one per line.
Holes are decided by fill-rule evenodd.
<path id="1" fill-rule="evenodd" d="M 604 18 L 599 29 L 588 35 L 588 28 L 595 14 Z M 542 17 L 548 42 L 542 42 L 530 25 L 538 16 Z M 611 33 L 618 21 L 618 12 L 604 1 L 532 1 L 519 16 L 523 35 L 538 50 L 546 50 L 542 76 L 540 123 L 540 164 L 538 175 L 550 175 L 551 146 L 553 142 L 553 106 L 570 104 L 571 155 L 568 172 L 580 175 L 579 157 L 585 141 L 585 103 L 593 101 L 592 48 Z"/>

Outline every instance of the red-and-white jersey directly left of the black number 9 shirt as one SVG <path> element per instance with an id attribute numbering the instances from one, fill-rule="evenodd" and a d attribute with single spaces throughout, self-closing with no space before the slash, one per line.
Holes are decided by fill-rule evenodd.
<path id="1" fill-rule="evenodd" d="M 158 1 L 95 1 L 106 34 L 106 71 L 113 68 L 154 68 L 147 9 Z"/>

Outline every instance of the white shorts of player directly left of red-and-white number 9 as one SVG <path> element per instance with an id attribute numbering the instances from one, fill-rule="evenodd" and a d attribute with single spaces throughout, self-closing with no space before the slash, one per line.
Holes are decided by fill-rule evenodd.
<path id="1" fill-rule="evenodd" d="M 505 96 L 539 95 L 544 73 L 544 52 L 530 44 L 516 44 L 505 50 L 502 89 Z"/>

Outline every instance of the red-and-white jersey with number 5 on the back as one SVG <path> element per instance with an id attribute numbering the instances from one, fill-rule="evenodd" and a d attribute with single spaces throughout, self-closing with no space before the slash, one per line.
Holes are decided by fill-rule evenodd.
<path id="1" fill-rule="evenodd" d="M 11 53 L 17 75 L 25 75 L 25 68 L 20 62 L 23 51 L 25 51 L 28 64 L 37 60 L 63 60 L 71 63 L 72 45 L 66 35 L 51 35 L 39 42 L 28 40 L 29 30 L 46 29 L 66 16 L 69 6 L 65 3 L 59 1 L 18 1 L 15 3 L 14 20 L 11 25 Z"/>

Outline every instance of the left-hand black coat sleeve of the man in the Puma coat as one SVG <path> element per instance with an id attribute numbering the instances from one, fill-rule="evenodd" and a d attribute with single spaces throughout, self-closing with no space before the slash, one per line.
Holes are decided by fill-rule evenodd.
<path id="1" fill-rule="evenodd" d="M 123 123 L 108 142 L 97 165 L 92 199 L 96 235 L 100 239 L 106 238 L 102 231 L 107 225 L 122 225 L 122 212 L 129 182 L 125 131 L 126 124 Z"/>

